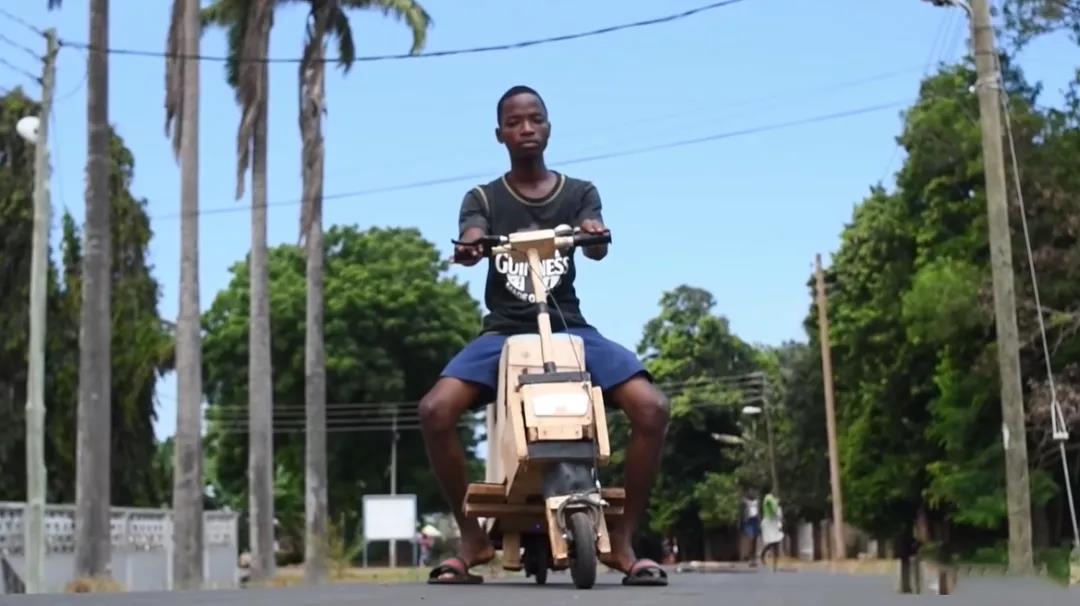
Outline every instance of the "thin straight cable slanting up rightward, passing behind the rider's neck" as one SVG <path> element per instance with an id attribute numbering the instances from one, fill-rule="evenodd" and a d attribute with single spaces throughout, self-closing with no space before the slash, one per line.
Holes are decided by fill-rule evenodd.
<path id="1" fill-rule="evenodd" d="M 895 102 L 889 102 L 889 103 L 883 103 L 883 104 L 878 104 L 878 105 L 872 105 L 872 106 L 865 106 L 865 107 L 849 109 L 849 110 L 845 110 L 845 111 L 837 111 L 837 112 L 833 112 L 833 113 L 825 113 L 825 115 L 812 116 L 810 118 L 802 118 L 802 119 L 799 119 L 799 120 L 791 120 L 791 121 L 787 121 L 787 122 L 777 122 L 777 123 L 773 123 L 773 124 L 764 124 L 761 126 L 754 126 L 754 127 L 750 127 L 750 129 L 740 129 L 740 130 L 737 130 L 737 131 L 726 131 L 726 132 L 723 132 L 723 133 L 715 133 L 715 134 L 706 135 L 706 136 L 703 136 L 703 137 L 693 137 L 693 138 L 679 139 L 679 140 L 664 143 L 664 144 L 657 144 L 657 145 L 651 145 L 651 146 L 630 148 L 630 149 L 623 149 L 623 150 L 619 150 L 619 151 L 611 151 L 611 152 L 607 152 L 607 153 L 597 153 L 597 154 L 592 154 L 592 156 L 583 156 L 583 157 L 580 157 L 580 158 L 573 158 L 573 159 L 569 159 L 569 160 L 564 160 L 562 162 L 554 162 L 554 163 L 552 163 L 552 166 L 569 166 L 569 165 L 573 165 L 573 164 L 583 164 L 583 163 L 586 163 L 586 162 L 596 162 L 598 160 L 611 160 L 611 159 L 615 159 L 615 158 L 624 158 L 624 157 L 627 157 L 627 156 L 637 156 L 637 154 L 640 154 L 640 153 L 648 153 L 648 152 L 660 151 L 660 150 L 664 150 L 664 149 L 673 149 L 673 148 L 677 148 L 677 147 L 685 147 L 685 146 L 689 146 L 689 145 L 697 145 L 697 144 L 708 143 L 708 142 L 714 142 L 714 140 L 720 140 L 720 139 L 726 139 L 726 138 L 733 138 L 733 137 L 739 137 L 739 136 L 754 135 L 754 134 L 758 134 L 758 133 L 766 133 L 766 132 L 769 132 L 769 131 L 778 131 L 778 130 L 789 129 L 789 127 L 794 127 L 794 126 L 802 126 L 802 125 L 813 124 L 813 123 L 818 123 L 818 122 L 827 122 L 827 121 L 832 121 L 832 120 L 839 120 L 839 119 L 842 119 L 842 118 L 852 118 L 852 117 L 861 116 L 861 115 L 864 115 L 864 113 L 873 113 L 873 112 L 881 111 L 881 110 L 885 110 L 885 109 L 890 109 L 890 108 L 893 108 L 893 107 L 900 107 L 900 106 L 902 106 L 904 104 L 908 104 L 910 102 L 912 102 L 912 99 L 895 100 Z M 329 194 L 323 196 L 323 201 L 326 201 L 326 200 L 341 200 L 341 199 L 346 199 L 346 198 L 364 198 L 364 197 L 374 196 L 374 194 L 377 194 L 377 193 L 388 193 L 388 192 L 391 192 L 391 191 L 404 191 L 404 190 L 409 190 L 409 189 L 420 189 L 420 188 L 424 188 L 424 187 L 431 187 L 431 186 L 435 186 L 435 185 L 446 185 L 446 184 L 451 184 L 451 183 L 476 180 L 476 179 L 482 179 L 482 178 L 489 177 L 494 172 L 496 172 L 496 171 L 474 172 L 474 173 L 459 174 L 459 175 L 454 175 L 454 176 L 448 176 L 448 177 L 438 177 L 438 178 L 434 178 L 434 179 L 423 179 L 423 180 L 408 181 L 408 183 L 399 184 L 399 185 L 391 185 L 391 186 L 383 186 L 383 187 L 376 187 L 376 188 L 368 188 L 368 189 L 357 189 L 357 190 L 352 190 L 352 191 L 342 191 L 342 192 L 338 192 L 338 193 L 329 193 Z M 300 204 L 301 202 L 303 202 L 303 199 L 280 200 L 280 201 L 275 201 L 275 202 L 269 202 L 269 203 L 267 203 L 267 206 L 293 206 L 293 205 L 296 205 L 296 204 Z M 219 215 L 219 214 L 228 214 L 228 213 L 242 213 L 242 212 L 245 212 L 247 208 L 248 208 L 247 206 L 241 206 L 241 205 L 233 204 L 233 205 L 229 205 L 229 206 L 216 206 L 216 207 L 210 207 L 210 208 L 202 208 L 202 210 L 199 211 L 199 214 L 200 215 Z M 171 213 L 171 214 L 156 215 L 152 218 L 153 219 L 158 219 L 158 220 L 165 220 L 165 219 L 178 219 L 180 217 L 181 217 L 180 213 Z"/>

